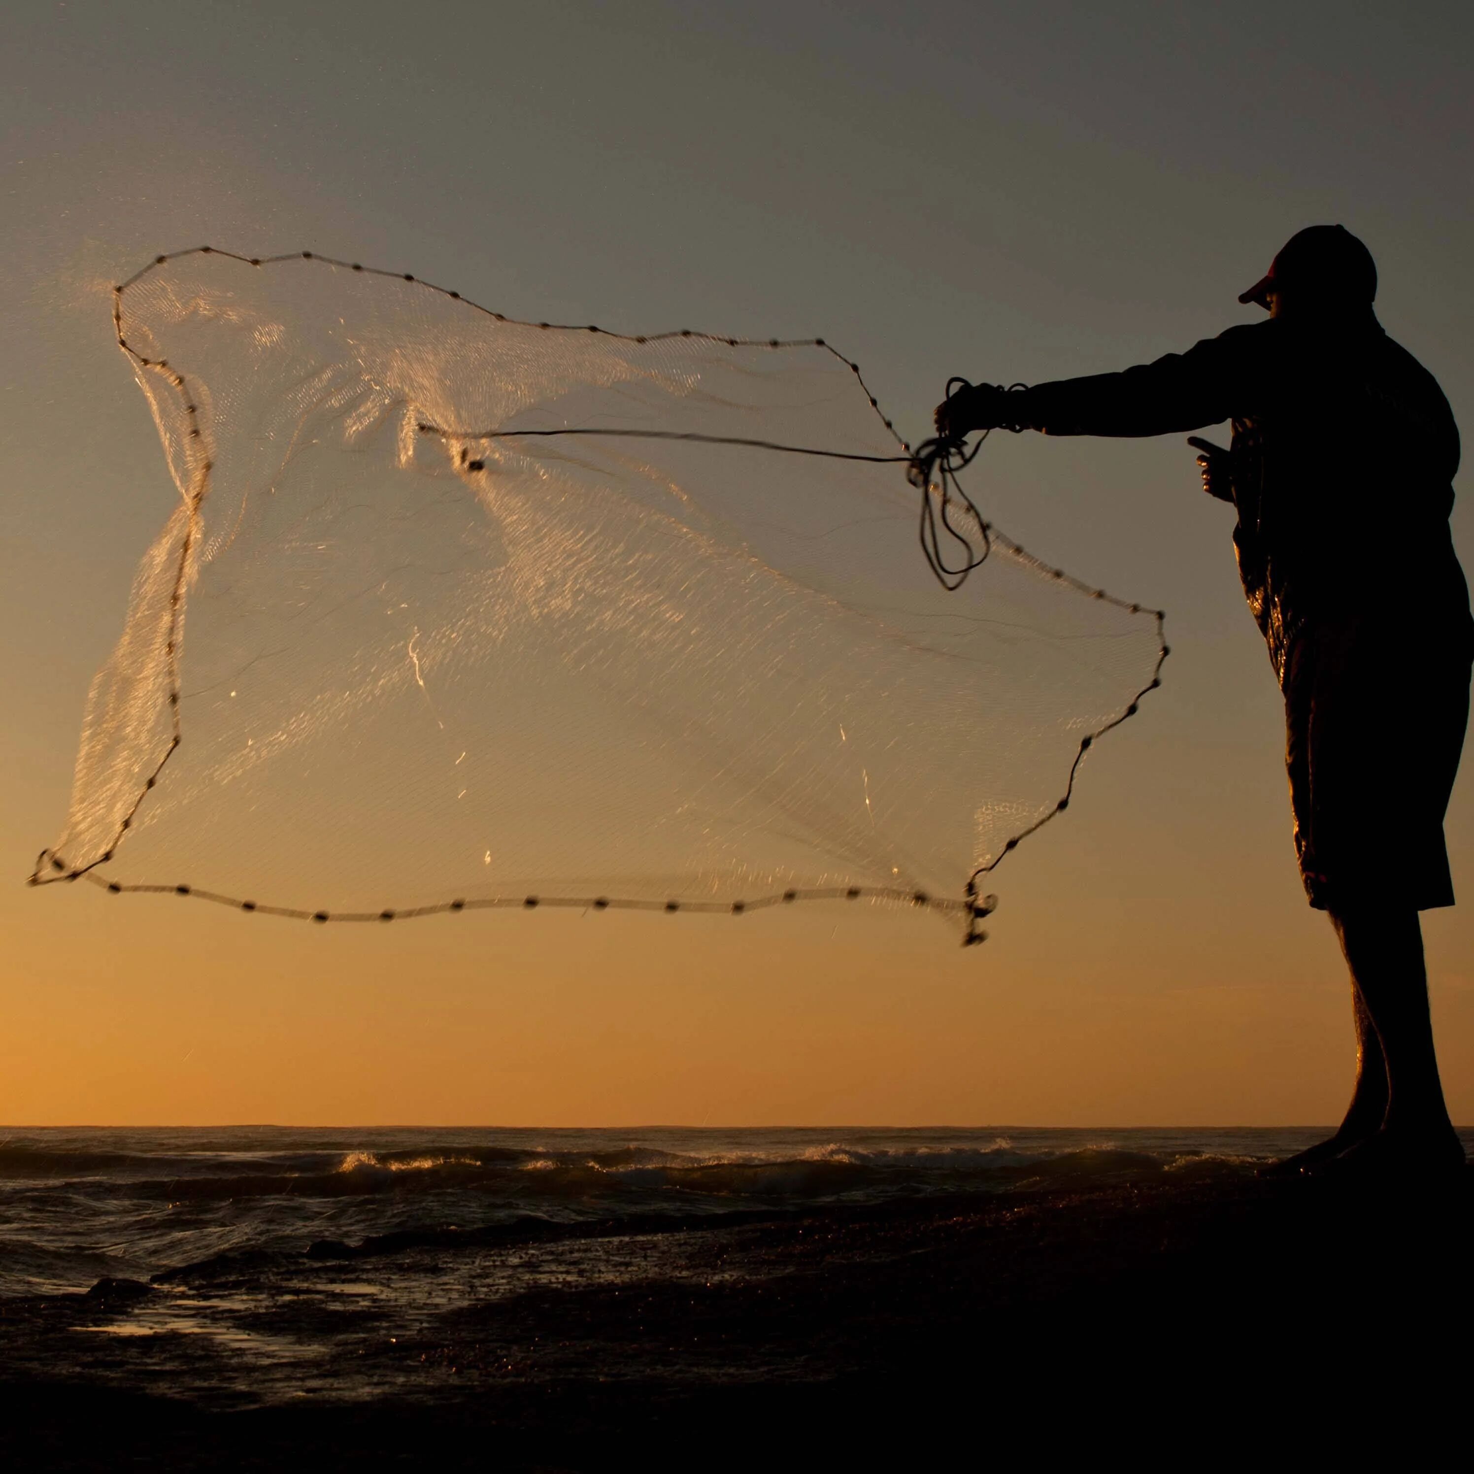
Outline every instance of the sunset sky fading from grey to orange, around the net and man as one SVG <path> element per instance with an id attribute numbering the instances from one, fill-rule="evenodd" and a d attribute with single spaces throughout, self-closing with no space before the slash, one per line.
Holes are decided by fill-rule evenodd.
<path id="1" fill-rule="evenodd" d="M 18 0 L 0 1120 L 1338 1119 L 1346 980 L 1294 868 L 1278 691 L 1231 513 L 1172 436 L 998 438 L 976 466 L 1001 526 L 1162 604 L 1175 652 L 999 871 L 983 948 L 822 914 L 308 929 L 22 880 L 174 497 L 108 320 L 149 255 L 314 249 L 534 320 L 822 335 L 917 436 L 948 374 L 1094 373 L 1251 320 L 1237 293 L 1284 239 L 1341 221 L 1471 433 L 1471 66 L 1467 4 Z M 1368 529 L 1368 578 L 1394 548 L 1394 520 Z M 1471 772 L 1447 824 L 1468 901 L 1424 927 L 1462 1122 Z M 1366 846 L 1396 864 L 1377 796 Z"/>

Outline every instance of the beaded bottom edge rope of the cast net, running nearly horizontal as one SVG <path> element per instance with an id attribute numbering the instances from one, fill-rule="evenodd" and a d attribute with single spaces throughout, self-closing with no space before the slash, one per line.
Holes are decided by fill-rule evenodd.
<path id="1" fill-rule="evenodd" d="M 573 911 L 660 911 L 668 915 L 677 912 L 746 915 L 750 911 L 766 911 L 772 907 L 794 905 L 800 901 L 887 901 L 926 911 L 937 911 L 943 915 L 965 915 L 970 923 L 976 924 L 983 917 L 992 915 L 998 905 L 996 896 L 958 901 L 951 896 L 935 896 L 927 890 L 902 886 L 790 886 L 787 890 L 755 896 L 752 901 L 690 901 L 681 898 L 650 901 L 629 896 L 545 896 L 542 893 L 523 893 L 517 896 L 466 896 L 454 901 L 436 901 L 420 907 L 385 907 L 379 911 L 332 911 L 326 908 L 308 911 L 299 907 L 277 907 L 246 901 L 239 896 L 226 896 L 218 890 L 205 890 L 199 886 L 106 880 L 97 874 L 97 867 L 105 862 L 105 859 L 96 859 L 91 865 L 71 868 L 60 855 L 43 850 L 28 884 L 55 886 L 85 880 L 115 896 L 186 896 L 193 901 L 209 901 L 214 905 L 230 907 L 234 911 L 245 911 L 252 915 L 283 917 L 289 921 L 315 921 L 318 924 L 327 921 L 411 921 L 417 917 L 453 915 L 460 911 L 535 911 L 539 907 Z M 52 874 L 47 874 L 47 870 Z"/>

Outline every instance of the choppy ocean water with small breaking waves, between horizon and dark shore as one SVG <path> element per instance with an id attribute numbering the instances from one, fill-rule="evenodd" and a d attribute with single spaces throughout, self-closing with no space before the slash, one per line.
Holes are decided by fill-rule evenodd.
<path id="1" fill-rule="evenodd" d="M 998 1192 L 1251 1164 L 1318 1131 L 0 1129 L 0 1296 L 399 1235 Z"/>

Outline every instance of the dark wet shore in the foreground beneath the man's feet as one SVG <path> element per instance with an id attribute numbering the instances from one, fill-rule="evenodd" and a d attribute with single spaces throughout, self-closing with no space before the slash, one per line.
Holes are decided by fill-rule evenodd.
<path id="1" fill-rule="evenodd" d="M 196 1290 L 262 1291 L 276 1334 L 335 1338 L 333 1375 L 284 1363 L 243 1394 L 228 1337 L 130 1334 L 159 1287 L 16 1297 L 0 1452 L 18 1470 L 930 1468 L 1023 1440 L 1195 1464 L 1284 1452 L 1268 1430 L 1293 1427 L 1421 1461 L 1465 1396 L 1468 1178 L 1163 1173 L 221 1259 Z M 619 1254 L 622 1278 L 587 1272 Z M 389 1262 L 433 1276 L 466 1256 L 557 1272 L 414 1327 L 345 1299 Z"/>

